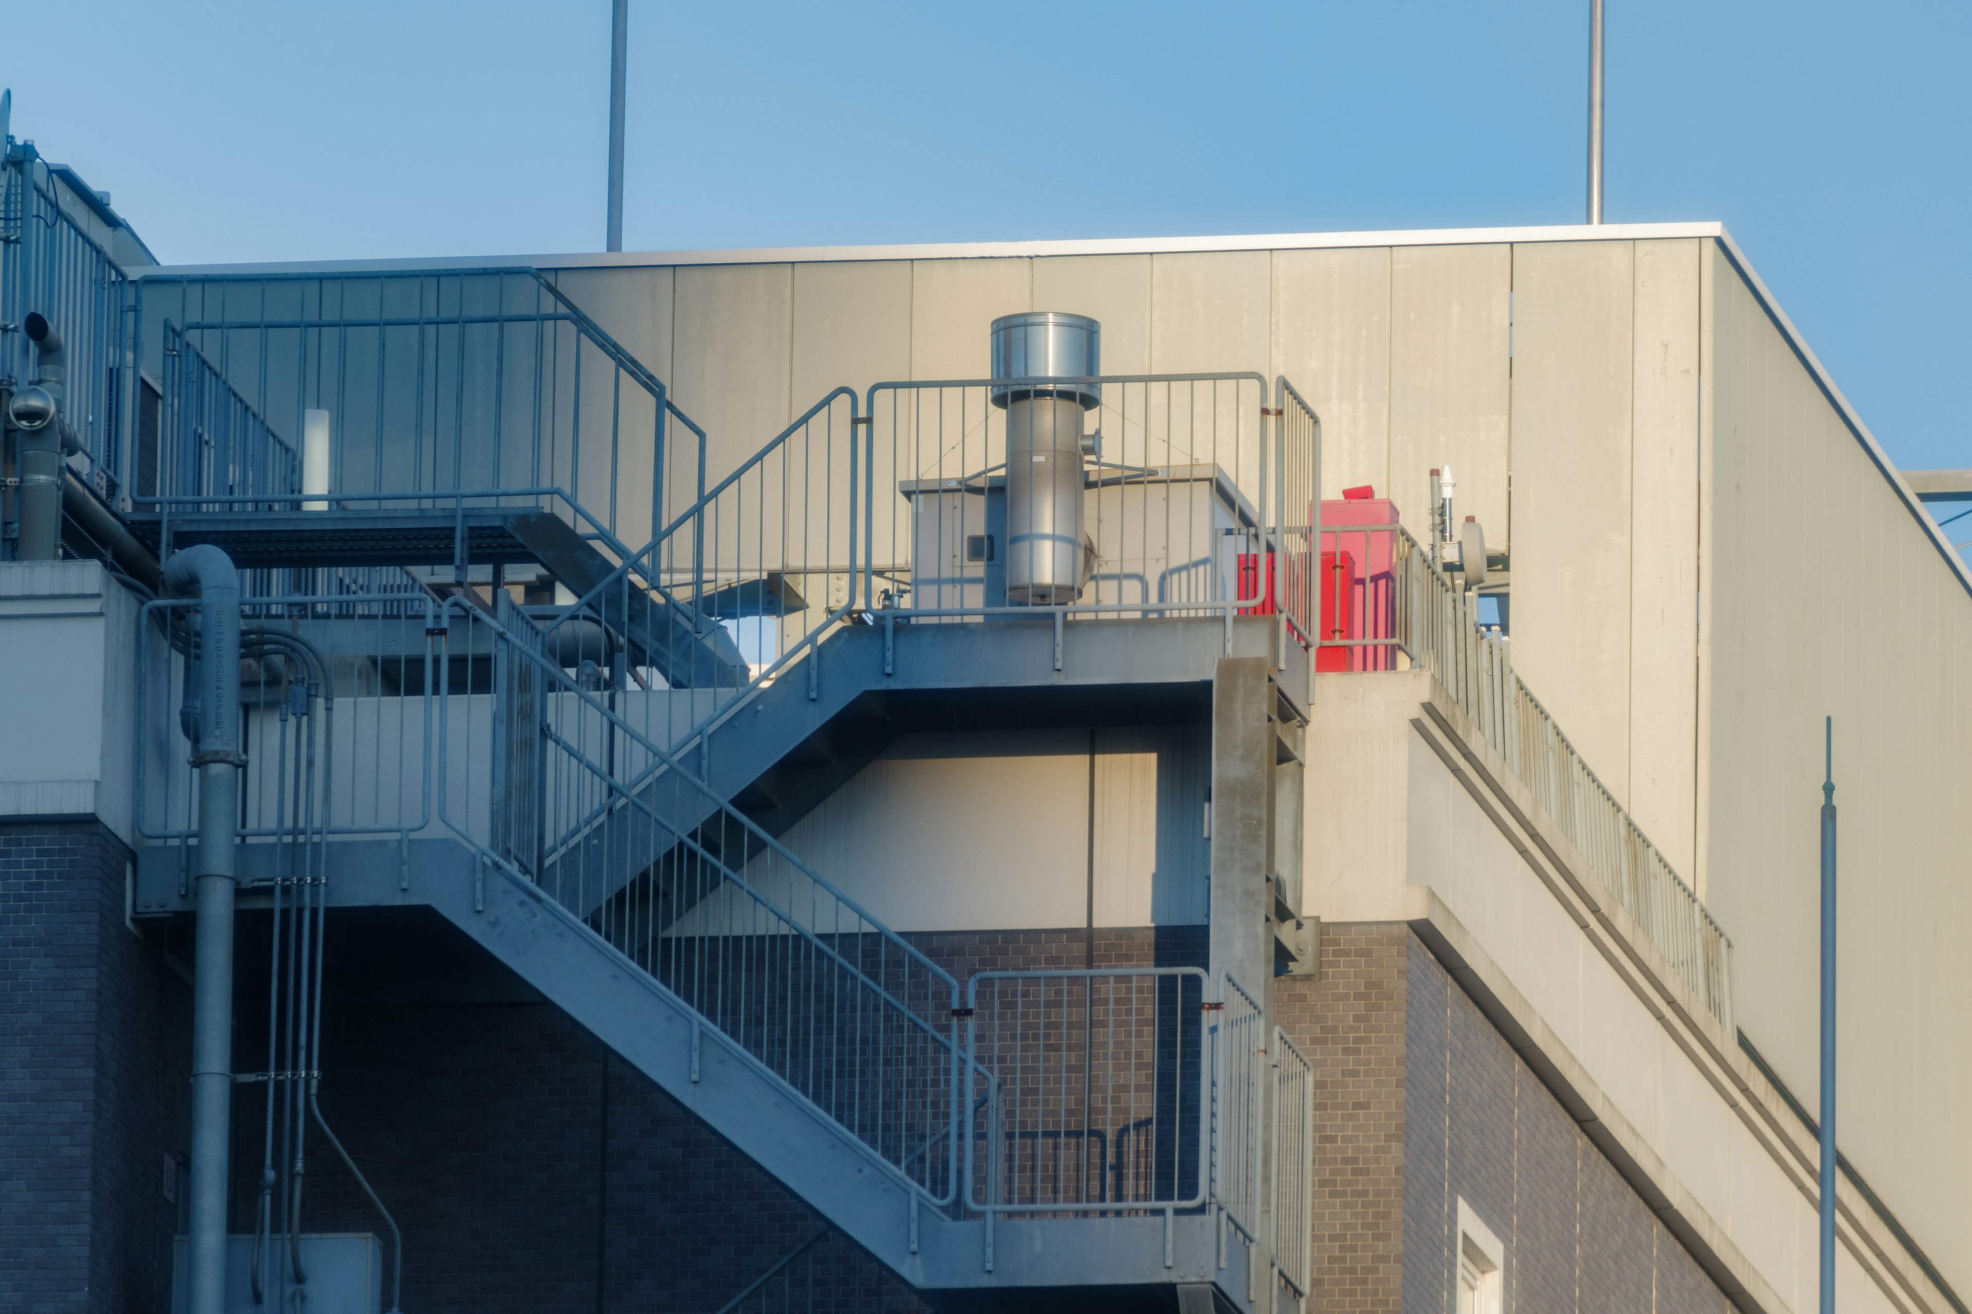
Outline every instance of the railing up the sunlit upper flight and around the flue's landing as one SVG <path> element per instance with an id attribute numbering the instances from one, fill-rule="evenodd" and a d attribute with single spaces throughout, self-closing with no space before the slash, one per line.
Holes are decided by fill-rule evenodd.
<path id="1" fill-rule="evenodd" d="M 550 630 L 637 589 L 678 601 L 674 626 L 698 615 L 732 630 L 743 684 L 647 705 L 665 721 L 641 729 L 680 755 L 858 619 L 1280 611 L 1305 642 L 1319 422 L 1292 384 L 1278 380 L 1280 406 L 1268 408 L 1258 374 L 1085 382 L 1104 388 L 1104 435 L 1085 471 L 1094 559 L 1083 601 L 1006 605 L 1006 412 L 990 402 L 994 384 L 901 382 L 870 390 L 874 416 L 848 388 L 824 396 Z"/>

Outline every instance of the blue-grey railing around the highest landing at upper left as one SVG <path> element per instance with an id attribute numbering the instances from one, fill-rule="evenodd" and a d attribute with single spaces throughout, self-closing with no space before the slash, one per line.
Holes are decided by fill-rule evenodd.
<path id="1" fill-rule="evenodd" d="M 396 313 L 390 305 L 394 296 L 408 307 L 408 294 L 388 294 L 388 288 L 404 284 L 418 286 L 414 313 L 410 309 Z M 300 292 L 278 297 L 296 305 L 276 305 L 270 313 L 272 290 L 296 286 Z M 645 534 L 665 518 L 667 494 L 682 493 L 686 500 L 694 500 L 704 487 L 704 429 L 676 408 L 665 382 L 649 366 L 536 268 L 158 272 L 138 278 L 136 288 L 138 359 L 144 353 L 144 297 L 174 292 L 183 297 L 189 290 L 197 290 L 201 307 L 225 307 L 227 301 L 215 299 L 207 290 L 260 292 L 258 307 L 239 317 L 227 309 L 203 313 L 187 303 L 181 307 L 185 311 L 181 323 L 168 325 L 168 333 L 189 335 L 193 343 L 217 339 L 223 353 L 241 357 L 245 361 L 241 370 L 221 359 L 215 372 L 229 382 L 239 374 L 235 390 L 243 396 L 243 390 L 252 392 L 256 400 L 250 402 L 250 410 L 258 416 L 270 416 L 274 410 L 288 414 L 292 406 L 292 422 L 298 426 L 304 406 L 331 410 L 335 431 L 353 435 L 351 441 L 363 443 L 355 449 L 357 455 L 375 461 L 375 473 L 369 475 L 375 491 L 347 489 L 339 479 L 331 498 L 375 498 L 392 481 L 406 477 L 434 485 L 448 477 L 467 483 L 465 467 L 471 461 L 491 461 L 495 473 L 489 481 L 491 491 L 511 491 L 511 485 L 566 485 L 576 498 L 598 508 L 598 516 L 611 532 L 643 542 Z M 252 296 L 235 299 L 254 301 Z M 477 303 L 467 309 L 469 301 Z M 416 331 L 414 341 L 404 337 L 410 329 Z M 586 359 L 588 382 L 584 382 Z M 649 406 L 641 402 L 631 406 L 631 394 L 649 398 Z M 584 418 L 586 406 L 590 418 Z M 637 414 L 643 416 L 641 424 L 635 420 Z M 670 422 L 696 437 L 696 445 L 686 443 L 686 451 L 676 453 L 684 469 L 672 469 L 676 461 L 667 437 Z M 487 424 L 491 441 L 485 439 Z M 467 427 L 473 437 L 469 445 Z M 590 437 L 588 455 L 586 429 L 598 429 Z M 414 469 L 404 465 L 406 455 L 394 447 L 388 461 L 385 459 L 385 439 L 394 433 L 418 437 Z M 619 522 L 623 473 L 639 469 L 645 461 L 639 447 L 625 445 L 633 435 L 651 445 L 649 524 Z M 428 449 L 422 445 L 426 437 Z M 292 441 L 284 445 L 290 451 L 294 447 Z M 341 469 L 349 447 L 337 439 L 333 451 Z M 525 473 L 519 479 L 503 479 L 499 467 L 507 461 L 519 461 Z M 601 496 L 586 487 L 596 477 L 607 485 Z M 140 500 L 156 502 L 150 496 Z"/>

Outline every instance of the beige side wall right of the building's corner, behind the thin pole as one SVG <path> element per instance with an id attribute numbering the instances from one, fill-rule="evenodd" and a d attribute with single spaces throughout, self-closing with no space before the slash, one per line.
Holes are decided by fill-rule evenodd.
<path id="1" fill-rule="evenodd" d="M 1741 1028 L 1816 1105 L 1812 823 L 1822 713 L 1842 806 L 1842 1149 L 1960 1290 L 1972 1141 L 1972 599 L 1729 264 L 1714 290 L 1708 902 Z M 1798 816 L 1798 825 L 1775 818 Z M 1919 1001 L 1913 1005 L 1913 1001 Z"/>

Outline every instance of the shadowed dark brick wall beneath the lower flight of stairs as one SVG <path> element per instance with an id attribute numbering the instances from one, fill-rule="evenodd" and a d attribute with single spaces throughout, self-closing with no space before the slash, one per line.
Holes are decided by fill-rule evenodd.
<path id="1" fill-rule="evenodd" d="M 820 1223 L 542 1003 L 331 1003 L 321 1111 L 404 1231 L 404 1308 L 716 1310 Z M 306 1229 L 385 1237 L 310 1133 Z M 262 1135 L 254 1093 L 235 1119 L 237 1231 Z M 801 1308 L 923 1308 L 840 1237 L 793 1277 L 826 1281 Z"/>

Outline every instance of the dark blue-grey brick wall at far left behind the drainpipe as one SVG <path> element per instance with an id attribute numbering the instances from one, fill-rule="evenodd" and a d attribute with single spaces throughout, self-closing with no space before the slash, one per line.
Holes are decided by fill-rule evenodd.
<path id="1" fill-rule="evenodd" d="M 0 825 L 0 1308 L 170 1298 L 189 987 L 124 924 L 101 823 Z"/>

